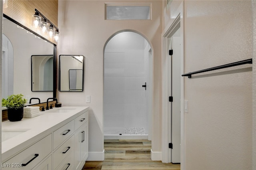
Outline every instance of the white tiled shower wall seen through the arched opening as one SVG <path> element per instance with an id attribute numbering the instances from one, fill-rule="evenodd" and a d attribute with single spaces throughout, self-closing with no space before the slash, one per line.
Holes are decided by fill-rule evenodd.
<path id="1" fill-rule="evenodd" d="M 104 127 L 148 129 L 144 38 L 122 32 L 106 45 L 104 53 Z"/>

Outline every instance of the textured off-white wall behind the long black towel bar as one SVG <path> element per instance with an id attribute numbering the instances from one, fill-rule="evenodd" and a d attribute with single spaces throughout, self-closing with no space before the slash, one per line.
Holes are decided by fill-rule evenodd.
<path id="1" fill-rule="evenodd" d="M 251 4 L 184 2 L 185 73 L 252 57 Z M 163 12 L 165 28 L 176 13 Z M 251 65 L 192 75 L 184 84 L 184 169 L 252 169 Z"/>

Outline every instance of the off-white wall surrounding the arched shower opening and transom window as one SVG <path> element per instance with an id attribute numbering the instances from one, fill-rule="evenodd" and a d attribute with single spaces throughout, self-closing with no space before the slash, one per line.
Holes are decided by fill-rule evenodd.
<path id="1" fill-rule="evenodd" d="M 107 1 L 121 2 L 121 1 Z M 59 92 L 63 105 L 86 105 L 89 110 L 89 158 L 103 152 L 103 53 L 107 40 L 121 30 L 140 32 L 150 42 L 154 56 L 154 127 L 152 150 L 161 151 L 161 15 L 162 1 L 122 0 L 122 3 L 151 3 L 152 20 L 105 20 L 103 0 L 61 0 L 58 2 L 60 40 L 58 55 L 85 56 L 84 92 Z M 86 103 L 86 95 L 91 103 Z M 101 154 L 102 155 L 102 154 Z M 96 159 L 96 158 L 95 158 Z M 94 160 L 95 160 L 94 159 Z M 99 158 L 100 159 L 100 158 Z"/>

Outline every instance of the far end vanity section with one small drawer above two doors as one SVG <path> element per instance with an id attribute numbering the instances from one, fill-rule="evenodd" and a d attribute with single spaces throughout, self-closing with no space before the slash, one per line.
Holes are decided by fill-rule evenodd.
<path id="1" fill-rule="evenodd" d="M 88 158 L 88 111 L 75 119 L 75 170 L 81 170 Z"/>

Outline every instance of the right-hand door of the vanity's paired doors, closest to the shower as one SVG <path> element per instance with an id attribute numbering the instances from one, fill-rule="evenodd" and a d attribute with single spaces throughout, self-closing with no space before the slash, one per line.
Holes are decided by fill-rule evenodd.
<path id="1" fill-rule="evenodd" d="M 82 126 L 81 161 L 88 158 L 88 122 Z"/>

